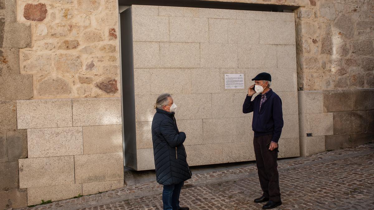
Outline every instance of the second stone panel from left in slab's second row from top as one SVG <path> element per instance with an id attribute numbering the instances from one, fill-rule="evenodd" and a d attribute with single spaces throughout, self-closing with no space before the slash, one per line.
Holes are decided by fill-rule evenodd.
<path id="1" fill-rule="evenodd" d="M 170 41 L 208 42 L 208 18 L 170 17 Z"/>

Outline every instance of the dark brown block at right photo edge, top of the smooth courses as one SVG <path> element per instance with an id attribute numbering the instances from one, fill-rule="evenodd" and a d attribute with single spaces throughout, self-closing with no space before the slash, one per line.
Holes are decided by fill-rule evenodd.
<path id="1" fill-rule="evenodd" d="M 374 109 L 374 89 L 357 89 L 353 92 L 355 110 Z"/>

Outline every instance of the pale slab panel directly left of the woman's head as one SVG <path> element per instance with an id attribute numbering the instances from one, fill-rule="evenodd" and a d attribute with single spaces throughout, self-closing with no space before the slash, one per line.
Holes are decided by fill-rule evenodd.
<path id="1" fill-rule="evenodd" d="M 156 104 L 158 96 L 159 95 L 135 95 L 135 121 L 152 121 L 153 115 L 156 113 L 154 105 Z"/>

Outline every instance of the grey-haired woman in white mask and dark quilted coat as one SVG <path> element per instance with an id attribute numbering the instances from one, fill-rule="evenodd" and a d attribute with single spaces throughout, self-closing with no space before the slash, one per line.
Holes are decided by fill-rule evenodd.
<path id="1" fill-rule="evenodd" d="M 191 178 L 183 146 L 186 134 L 179 132 L 174 114 L 177 110 L 168 93 L 161 94 L 154 105 L 152 141 L 157 182 L 163 185 L 162 202 L 165 210 L 188 210 L 179 206 L 184 181 Z"/>

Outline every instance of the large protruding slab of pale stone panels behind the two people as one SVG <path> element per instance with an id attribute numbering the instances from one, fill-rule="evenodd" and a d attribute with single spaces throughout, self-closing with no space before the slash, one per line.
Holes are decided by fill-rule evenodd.
<path id="1" fill-rule="evenodd" d="M 151 121 L 171 93 L 191 166 L 254 160 L 252 113 L 243 114 L 255 75 L 272 74 L 285 126 L 279 157 L 299 156 L 293 13 L 138 6 L 132 9 L 137 170 L 154 169 Z M 244 74 L 244 89 L 225 89 Z"/>

